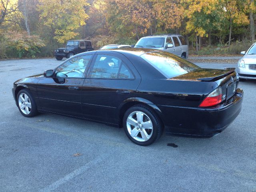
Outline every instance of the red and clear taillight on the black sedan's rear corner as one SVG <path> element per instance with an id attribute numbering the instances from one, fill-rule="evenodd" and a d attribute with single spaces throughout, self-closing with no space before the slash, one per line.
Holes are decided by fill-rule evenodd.
<path id="1" fill-rule="evenodd" d="M 222 102 L 222 88 L 218 87 L 213 90 L 199 105 L 199 107 L 210 107 Z"/>

